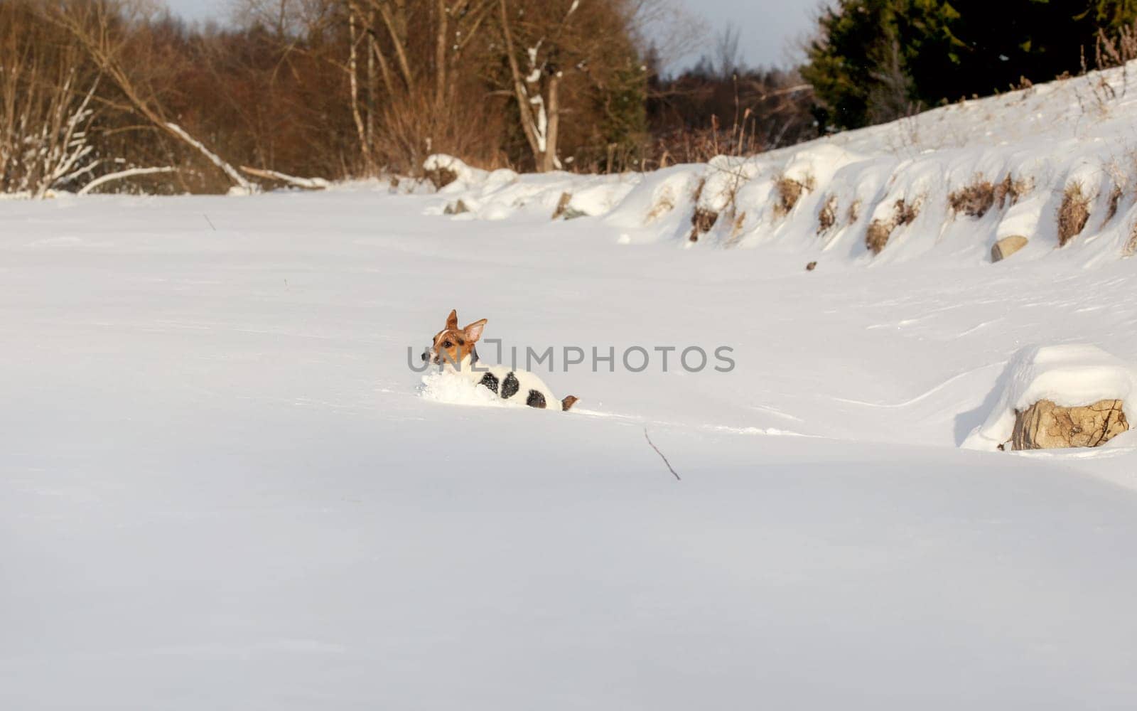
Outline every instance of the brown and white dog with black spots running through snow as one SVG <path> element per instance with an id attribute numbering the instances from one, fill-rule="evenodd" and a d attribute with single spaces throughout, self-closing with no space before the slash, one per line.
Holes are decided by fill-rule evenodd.
<path id="1" fill-rule="evenodd" d="M 524 399 L 530 407 L 545 408 L 558 403 L 561 410 L 568 410 L 576 402 L 572 395 L 557 400 L 548 386 L 529 371 L 509 370 L 504 365 L 482 365 L 478 361 L 478 349 L 474 345 L 482 337 L 485 319 L 475 321 L 464 329 L 458 328 L 458 312 L 451 311 L 446 317 L 446 328 L 434 334 L 431 347 L 423 353 L 423 361 L 442 365 L 450 372 L 470 378 L 473 382 L 485 386 L 504 400 Z"/>

